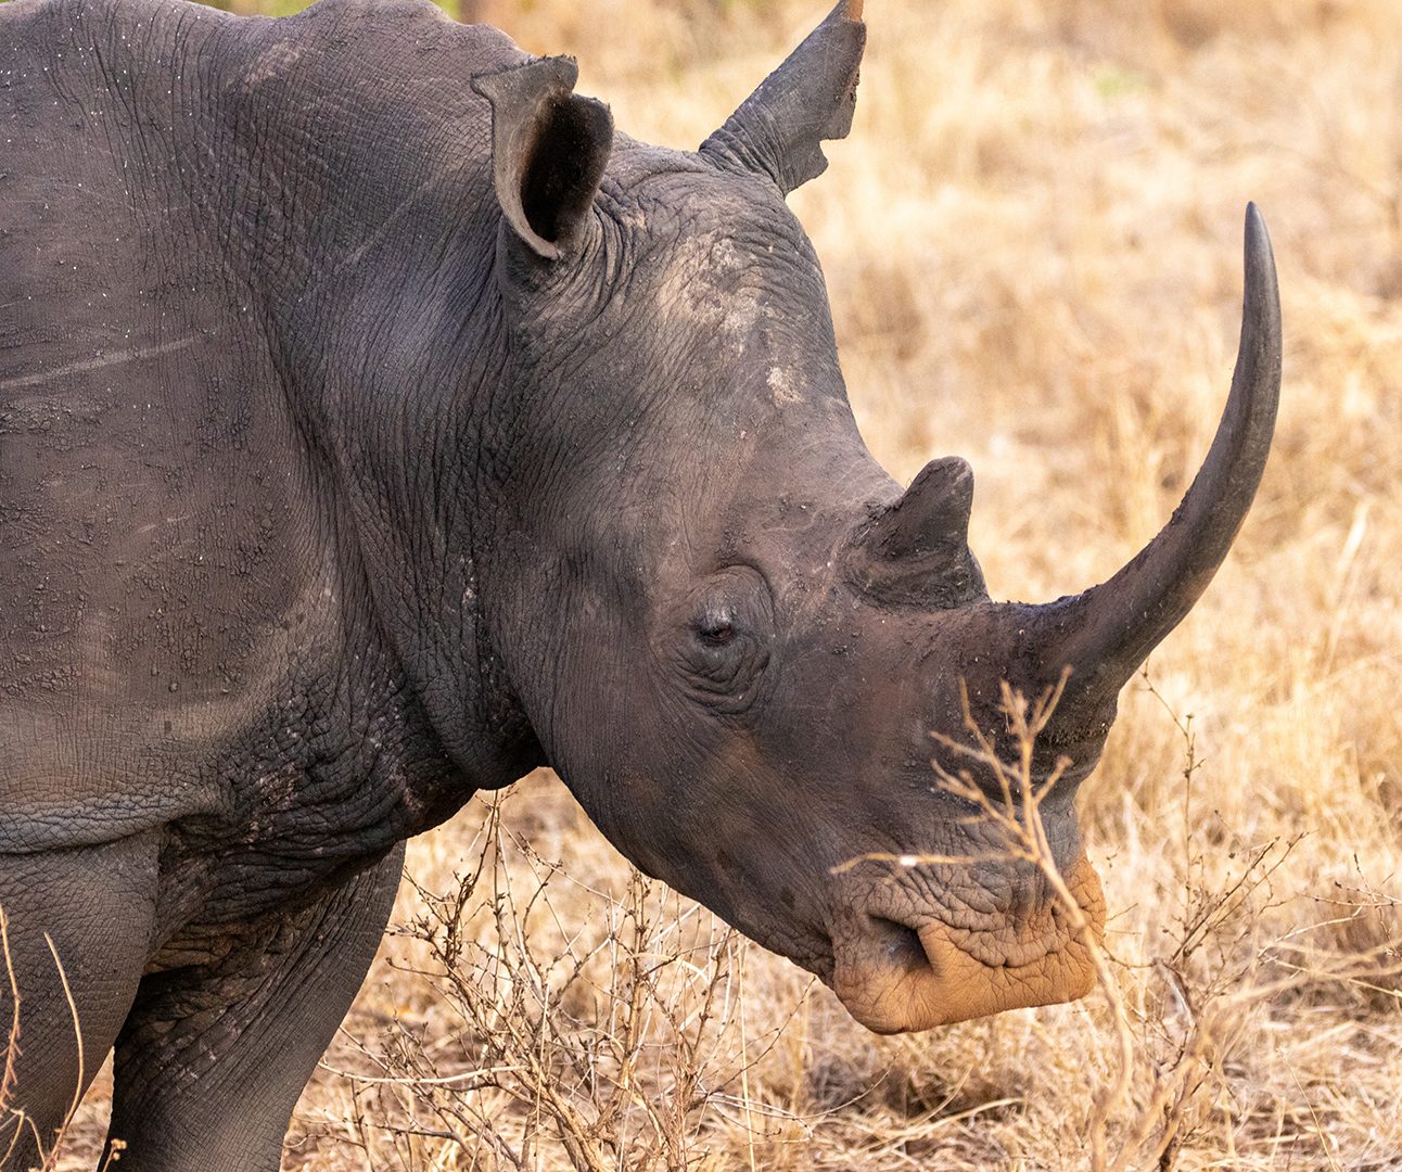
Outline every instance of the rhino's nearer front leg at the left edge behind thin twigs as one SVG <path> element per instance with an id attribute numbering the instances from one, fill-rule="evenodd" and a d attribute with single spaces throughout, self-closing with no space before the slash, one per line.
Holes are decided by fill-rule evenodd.
<path id="1" fill-rule="evenodd" d="M 20 1000 L 14 1081 L 8 1096 L 0 1092 L 0 1168 L 41 1166 L 101 1068 L 146 965 L 154 893 L 150 834 L 80 850 L 0 854 L 10 953 L 8 966 L 0 955 L 0 1072 L 15 993 Z"/>

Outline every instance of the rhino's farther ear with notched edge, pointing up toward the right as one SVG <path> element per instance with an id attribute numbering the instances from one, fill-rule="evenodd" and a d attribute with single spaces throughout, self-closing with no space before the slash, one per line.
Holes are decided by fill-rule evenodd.
<path id="1" fill-rule="evenodd" d="M 827 170 L 822 143 L 845 139 L 866 48 L 862 0 L 838 4 L 784 64 L 701 144 L 732 171 L 764 175 L 788 195 Z"/>

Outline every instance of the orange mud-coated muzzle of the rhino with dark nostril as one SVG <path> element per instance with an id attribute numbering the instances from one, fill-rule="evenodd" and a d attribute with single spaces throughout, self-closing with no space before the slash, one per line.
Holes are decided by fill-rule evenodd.
<path id="1" fill-rule="evenodd" d="M 1066 880 L 1098 943 L 1105 901 L 1084 855 Z M 976 929 L 857 911 L 833 934 L 829 984 L 861 1025 L 907 1033 L 1085 997 L 1095 986 L 1091 946 L 1054 903 Z"/>

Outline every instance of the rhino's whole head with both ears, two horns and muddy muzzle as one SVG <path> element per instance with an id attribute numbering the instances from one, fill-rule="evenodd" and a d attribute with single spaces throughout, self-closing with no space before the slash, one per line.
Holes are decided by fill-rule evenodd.
<path id="1" fill-rule="evenodd" d="M 564 59 L 475 80 L 515 404 L 484 599 L 520 709 L 604 834 L 897 1032 L 1092 987 L 1084 922 L 932 758 L 967 771 L 948 742 L 970 728 L 1015 753 L 1004 687 L 1066 681 L 1030 771 L 1054 781 L 1047 850 L 1098 935 L 1075 789 L 1251 505 L 1280 325 L 1251 209 L 1237 373 L 1178 512 L 1101 586 L 993 601 L 969 467 L 935 460 L 901 491 L 862 444 L 784 202 L 847 133 L 864 39 L 845 0 L 697 153 L 615 143 Z"/>

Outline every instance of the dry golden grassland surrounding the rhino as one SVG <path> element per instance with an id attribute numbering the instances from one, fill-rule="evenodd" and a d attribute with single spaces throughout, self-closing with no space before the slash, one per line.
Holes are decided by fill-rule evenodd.
<path id="1" fill-rule="evenodd" d="M 676 146 L 822 15 L 482 7 Z M 1273 231 L 1265 485 L 1082 789 L 1112 986 L 878 1039 L 537 775 L 411 845 L 285 1166 L 1402 1168 L 1402 4 L 866 8 L 854 135 L 792 203 L 872 450 L 973 463 L 995 597 L 1098 582 L 1171 515 L 1227 394 L 1248 199 Z"/>

